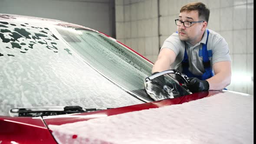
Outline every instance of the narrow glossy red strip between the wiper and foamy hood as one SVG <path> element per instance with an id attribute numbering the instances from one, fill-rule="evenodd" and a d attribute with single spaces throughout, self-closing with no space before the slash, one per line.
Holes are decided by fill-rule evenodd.
<path id="1" fill-rule="evenodd" d="M 46 122 L 46 124 L 54 124 L 54 125 L 73 123 L 77 121 L 87 121 L 92 118 L 99 118 L 102 115 L 105 115 L 105 116 L 118 115 L 118 114 L 131 112 L 131 111 L 141 111 L 149 108 L 160 108 L 167 105 L 182 104 L 184 102 L 189 102 L 189 101 L 194 101 L 200 98 L 209 97 L 217 93 L 222 93 L 222 92 L 221 91 L 197 92 L 197 93 L 194 93 L 191 95 L 185 95 L 179 98 L 165 99 L 161 101 L 149 102 L 149 103 L 144 103 L 139 105 L 131 105 L 131 106 L 126 106 L 121 108 L 113 108 L 113 109 L 102 110 L 102 111 L 80 113 L 75 115 L 59 115 L 56 117 L 48 117 L 48 118 L 46 117 L 46 118 L 43 118 L 43 120 Z"/>

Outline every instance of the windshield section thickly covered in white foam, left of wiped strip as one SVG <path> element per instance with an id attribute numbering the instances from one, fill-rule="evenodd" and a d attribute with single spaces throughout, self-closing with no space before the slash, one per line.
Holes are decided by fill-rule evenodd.
<path id="1" fill-rule="evenodd" d="M 144 103 L 88 65 L 52 26 L 1 23 L 0 115 L 11 108 Z"/>

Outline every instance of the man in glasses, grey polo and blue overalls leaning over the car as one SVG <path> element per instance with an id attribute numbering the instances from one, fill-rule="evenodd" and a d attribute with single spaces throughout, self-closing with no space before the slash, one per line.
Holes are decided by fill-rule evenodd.
<path id="1" fill-rule="evenodd" d="M 186 74 L 191 92 L 222 90 L 231 81 L 231 59 L 228 45 L 220 34 L 206 29 L 210 10 L 200 2 L 181 7 L 175 24 L 177 32 L 169 36 L 161 47 L 152 74 L 178 69 Z M 215 75 L 214 75 L 215 74 Z M 145 83 L 147 93 L 155 100 L 159 88 L 165 85 L 163 77 Z M 152 87 L 153 86 L 153 87 Z M 163 93 L 164 90 L 161 90 Z"/>

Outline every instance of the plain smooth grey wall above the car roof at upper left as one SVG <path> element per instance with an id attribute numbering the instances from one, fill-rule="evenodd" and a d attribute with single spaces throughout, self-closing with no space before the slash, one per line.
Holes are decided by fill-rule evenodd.
<path id="1" fill-rule="evenodd" d="M 0 13 L 63 20 L 115 37 L 115 0 L 0 0 Z"/>

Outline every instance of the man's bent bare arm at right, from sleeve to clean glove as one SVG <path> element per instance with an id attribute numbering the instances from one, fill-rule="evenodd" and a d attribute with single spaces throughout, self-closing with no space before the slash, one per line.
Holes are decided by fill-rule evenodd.
<path id="1" fill-rule="evenodd" d="M 210 79 L 209 90 L 222 90 L 226 86 L 230 85 L 231 82 L 231 62 L 222 61 L 213 64 L 213 70 L 215 75 Z"/>

